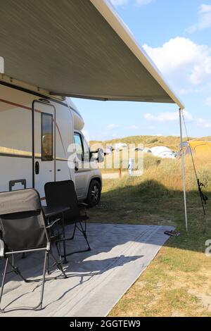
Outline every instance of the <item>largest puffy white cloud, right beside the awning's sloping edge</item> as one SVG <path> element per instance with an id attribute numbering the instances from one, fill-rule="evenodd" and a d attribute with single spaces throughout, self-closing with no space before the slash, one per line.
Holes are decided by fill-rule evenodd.
<path id="1" fill-rule="evenodd" d="M 211 84 L 210 47 L 176 37 L 160 47 L 145 44 L 143 48 L 178 92 L 185 94 Z"/>

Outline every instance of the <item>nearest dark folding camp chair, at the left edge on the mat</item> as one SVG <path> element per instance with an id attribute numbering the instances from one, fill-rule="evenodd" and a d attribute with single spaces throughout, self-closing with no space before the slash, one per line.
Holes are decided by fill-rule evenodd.
<path id="1" fill-rule="evenodd" d="M 5 312 L 4 308 L 1 309 L 1 299 L 3 296 L 8 265 L 10 265 L 12 271 L 19 275 L 25 282 L 40 281 L 27 280 L 23 277 L 18 267 L 14 266 L 14 254 L 45 251 L 39 304 L 35 307 L 25 307 L 20 309 L 35 310 L 37 308 L 42 308 L 46 264 L 49 255 L 53 258 L 57 268 L 63 273 L 64 277 L 67 277 L 60 261 L 58 262 L 51 252 L 49 230 L 53 224 L 58 222 L 58 220 L 59 218 L 54 220 L 51 225 L 46 225 L 44 213 L 41 209 L 39 194 L 34 189 L 0 193 L 0 257 L 6 259 L 0 292 L 1 313 Z M 10 257 L 12 257 L 12 262 L 10 261 Z"/>

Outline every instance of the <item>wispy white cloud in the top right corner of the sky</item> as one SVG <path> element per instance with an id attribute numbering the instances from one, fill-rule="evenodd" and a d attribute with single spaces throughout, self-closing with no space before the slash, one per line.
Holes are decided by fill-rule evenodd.
<path id="1" fill-rule="evenodd" d="M 211 5 L 202 4 L 198 9 L 198 22 L 188 27 L 187 32 L 193 33 L 211 27 Z"/>

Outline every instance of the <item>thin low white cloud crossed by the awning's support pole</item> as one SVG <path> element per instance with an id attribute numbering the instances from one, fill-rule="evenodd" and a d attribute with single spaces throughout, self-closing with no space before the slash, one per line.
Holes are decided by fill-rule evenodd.
<path id="1" fill-rule="evenodd" d="M 179 120 L 179 112 L 165 112 L 165 113 L 158 113 L 158 115 L 153 115 L 151 113 L 144 114 L 144 118 L 146 120 L 150 120 L 151 122 L 174 122 Z M 184 118 L 186 120 L 191 121 L 193 120 L 193 116 L 188 113 L 188 111 L 184 111 Z"/>

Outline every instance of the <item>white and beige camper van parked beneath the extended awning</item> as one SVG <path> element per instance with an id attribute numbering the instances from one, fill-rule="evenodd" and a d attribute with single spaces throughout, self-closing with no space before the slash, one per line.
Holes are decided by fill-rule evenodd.
<path id="1" fill-rule="evenodd" d="M 83 162 L 78 165 L 77 159 L 70 158 L 75 140 L 81 143 L 82 154 L 90 155 L 83 126 L 82 116 L 69 98 L 51 96 L 8 77 L 1 79 L 0 192 L 34 187 L 45 201 L 46 182 L 70 179 L 79 200 L 91 194 L 93 182 L 101 189 L 98 167 L 83 168 Z"/>

